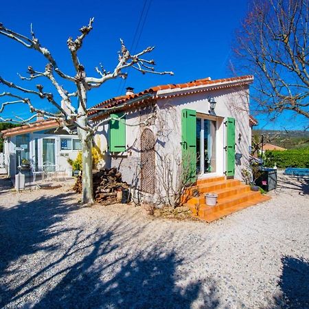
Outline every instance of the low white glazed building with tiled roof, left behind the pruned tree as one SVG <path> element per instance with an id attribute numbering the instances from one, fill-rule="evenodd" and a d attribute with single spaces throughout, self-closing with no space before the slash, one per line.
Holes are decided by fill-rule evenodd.
<path id="1" fill-rule="evenodd" d="M 56 120 L 49 119 L 1 131 L 8 176 L 14 180 L 23 159 L 32 163 L 34 172 L 41 172 L 43 166 L 65 172 L 70 166 L 67 159 L 76 159 L 82 147 L 77 136 L 58 126 Z"/>

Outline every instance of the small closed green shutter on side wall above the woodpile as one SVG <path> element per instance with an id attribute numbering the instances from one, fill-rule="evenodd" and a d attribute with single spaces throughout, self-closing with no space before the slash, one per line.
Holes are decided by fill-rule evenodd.
<path id="1" fill-rule="evenodd" d="M 126 117 L 124 113 L 111 114 L 109 122 L 109 151 L 126 151 Z"/>

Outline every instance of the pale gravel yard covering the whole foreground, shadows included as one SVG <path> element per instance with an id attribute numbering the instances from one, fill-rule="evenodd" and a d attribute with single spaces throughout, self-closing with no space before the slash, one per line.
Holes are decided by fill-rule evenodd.
<path id="1" fill-rule="evenodd" d="M 308 184 L 207 224 L 0 180 L 0 307 L 309 308 Z"/>

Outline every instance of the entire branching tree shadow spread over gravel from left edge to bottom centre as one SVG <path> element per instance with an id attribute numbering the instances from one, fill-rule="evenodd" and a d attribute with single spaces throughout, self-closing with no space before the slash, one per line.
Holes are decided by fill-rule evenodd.
<path id="1" fill-rule="evenodd" d="M 78 209 L 69 199 L 60 194 L 0 207 L 0 284 L 3 275 L 10 278 L 0 286 L 0 308 L 186 309 L 196 299 L 199 308 L 219 306 L 216 282 L 187 282 L 177 273 L 185 261 L 173 250 L 134 241 L 147 222 L 135 225 L 126 215 L 97 228 L 82 220 L 66 228 L 67 214 Z"/>

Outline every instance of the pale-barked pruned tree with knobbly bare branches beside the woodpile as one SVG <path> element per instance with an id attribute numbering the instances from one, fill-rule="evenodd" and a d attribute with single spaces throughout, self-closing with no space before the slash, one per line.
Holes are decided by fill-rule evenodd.
<path id="1" fill-rule="evenodd" d="M 132 67 L 141 73 L 155 73 L 155 74 L 173 74 L 172 72 L 159 72 L 155 71 L 154 60 L 144 59 L 144 55 L 152 52 L 155 47 L 147 47 L 137 54 L 130 54 L 130 51 L 124 45 L 124 41 L 120 39 L 121 49 L 118 52 L 118 63 L 113 71 L 106 71 L 102 65 L 100 67 L 95 67 L 98 77 L 87 76 L 84 65 L 80 62 L 78 58 L 78 52 L 82 47 L 84 38 L 93 29 L 93 18 L 90 19 L 89 24 L 80 28 L 80 35 L 74 40 L 69 37 L 67 40 L 67 47 L 71 54 L 71 62 L 75 68 L 75 76 L 70 76 L 65 71 L 60 69 L 58 63 L 54 56 L 52 56 L 49 49 L 41 45 L 34 31 L 30 30 L 31 36 L 24 36 L 8 29 L 3 24 L 0 23 L 0 34 L 6 36 L 17 43 L 23 45 L 28 49 L 34 49 L 36 52 L 42 54 L 47 60 L 47 65 L 45 70 L 37 71 L 32 66 L 27 68 L 28 76 L 20 76 L 21 80 L 36 80 L 37 78 L 45 78 L 47 82 L 52 83 L 55 89 L 55 93 L 60 95 L 60 102 L 58 102 L 56 95 L 54 93 L 44 91 L 43 84 L 36 84 L 36 89 L 26 89 L 21 87 L 14 82 L 5 80 L 0 76 L 0 83 L 5 87 L 12 89 L 12 91 L 4 91 L 0 93 L 0 97 L 11 98 L 7 102 L 1 104 L 0 113 L 4 110 L 5 106 L 8 104 L 26 104 L 30 108 L 32 116 L 28 119 L 21 119 L 21 117 L 15 117 L 10 119 L 4 119 L 0 117 L 0 121 L 9 122 L 20 122 L 27 123 L 34 119 L 37 115 L 41 115 L 45 118 L 56 119 L 59 126 L 67 130 L 70 134 L 73 134 L 71 127 L 76 127 L 78 131 L 78 137 L 82 142 L 82 202 L 91 204 L 93 203 L 93 183 L 92 183 L 92 157 L 91 148 L 93 135 L 98 130 L 99 126 L 103 122 L 108 122 L 109 118 L 102 120 L 102 122 L 93 124 L 91 119 L 89 119 L 88 112 L 89 107 L 87 104 L 87 93 L 91 89 L 101 87 L 104 82 L 115 79 L 115 78 L 126 78 L 127 73 L 124 72 L 125 69 Z M 68 64 L 69 65 L 69 64 Z M 76 91 L 69 93 L 63 86 L 60 80 L 67 80 L 71 82 Z M 27 98 L 25 95 L 35 95 L 42 100 L 46 100 L 48 104 L 56 106 L 58 113 L 52 113 L 46 109 L 36 108 L 32 104 L 32 100 Z M 78 106 L 77 108 L 72 104 L 72 98 L 77 98 Z M 99 103 L 99 102 L 98 102 Z M 102 108 L 100 108 L 102 110 Z"/>

